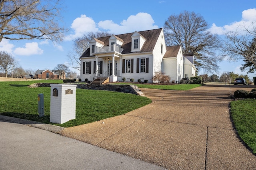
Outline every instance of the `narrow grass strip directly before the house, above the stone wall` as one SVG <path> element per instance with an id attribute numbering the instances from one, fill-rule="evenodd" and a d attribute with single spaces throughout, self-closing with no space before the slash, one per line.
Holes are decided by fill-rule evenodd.
<path id="1" fill-rule="evenodd" d="M 112 83 L 112 84 L 132 84 L 126 82 Z M 161 90 L 190 90 L 202 86 L 202 84 L 175 84 L 175 85 L 158 85 L 158 84 L 133 84 L 139 88 L 152 88 L 152 89 L 161 89 Z"/>

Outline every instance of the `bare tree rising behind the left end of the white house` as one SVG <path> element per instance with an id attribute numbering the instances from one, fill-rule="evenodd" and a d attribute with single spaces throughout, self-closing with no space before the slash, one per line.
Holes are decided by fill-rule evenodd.
<path id="1" fill-rule="evenodd" d="M 82 37 L 74 40 L 72 51 L 68 53 L 69 64 L 72 68 L 80 70 L 80 57 L 90 47 L 90 41 L 92 38 L 106 37 L 111 34 L 108 32 L 89 32 Z"/>

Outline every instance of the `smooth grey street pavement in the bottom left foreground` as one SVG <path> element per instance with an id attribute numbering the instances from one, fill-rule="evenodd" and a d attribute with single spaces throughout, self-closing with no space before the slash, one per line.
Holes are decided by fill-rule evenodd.
<path id="1" fill-rule="evenodd" d="M 50 131 L 0 120 L 0 170 L 102 169 L 164 168 Z"/>

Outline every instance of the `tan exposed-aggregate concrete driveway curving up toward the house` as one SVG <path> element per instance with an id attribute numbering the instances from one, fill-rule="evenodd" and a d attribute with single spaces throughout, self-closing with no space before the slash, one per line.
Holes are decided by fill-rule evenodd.
<path id="1" fill-rule="evenodd" d="M 237 89 L 244 87 L 141 89 L 152 104 L 60 133 L 168 169 L 255 170 L 256 156 L 230 121 L 230 94 Z"/>

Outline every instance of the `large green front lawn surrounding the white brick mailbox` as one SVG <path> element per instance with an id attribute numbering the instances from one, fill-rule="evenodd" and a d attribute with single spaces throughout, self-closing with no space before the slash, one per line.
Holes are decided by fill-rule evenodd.
<path id="1" fill-rule="evenodd" d="M 72 127 L 122 115 L 151 103 L 151 100 L 134 94 L 103 90 L 76 90 L 76 119 L 63 124 L 50 123 L 50 87 L 28 88 L 38 82 L 62 83 L 62 80 L 27 82 L 0 82 L 0 115 L 18 117 Z M 44 94 L 44 117 L 38 117 L 37 95 Z"/>

